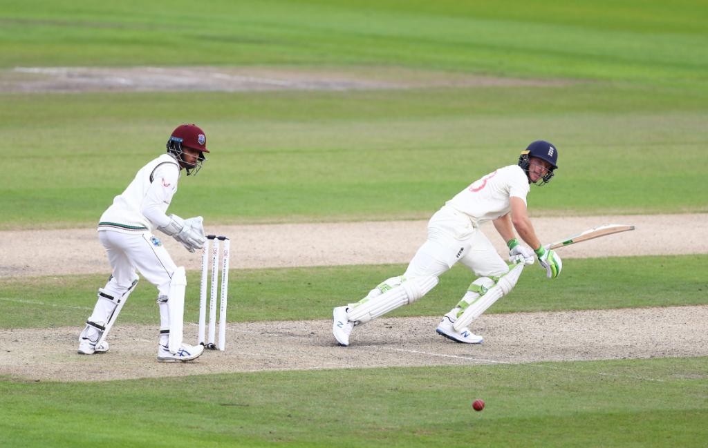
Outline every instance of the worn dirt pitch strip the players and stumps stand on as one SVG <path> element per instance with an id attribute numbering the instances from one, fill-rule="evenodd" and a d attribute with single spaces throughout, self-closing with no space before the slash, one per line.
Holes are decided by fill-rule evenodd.
<path id="1" fill-rule="evenodd" d="M 229 324 L 227 350 L 193 362 L 156 362 L 156 328 L 116 326 L 102 355 L 77 355 L 78 327 L 0 330 L 0 375 L 104 381 L 221 372 L 518 364 L 708 355 L 708 306 L 483 315 L 469 346 L 435 334 L 437 317 L 379 318 L 337 346 L 331 321 Z M 195 341 L 196 326 L 185 329 Z"/>

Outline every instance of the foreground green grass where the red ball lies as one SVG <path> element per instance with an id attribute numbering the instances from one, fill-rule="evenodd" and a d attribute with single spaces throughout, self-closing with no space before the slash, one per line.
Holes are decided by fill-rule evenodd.
<path id="1" fill-rule="evenodd" d="M 706 362 L 8 380 L 0 431 L 27 447 L 703 447 Z"/>

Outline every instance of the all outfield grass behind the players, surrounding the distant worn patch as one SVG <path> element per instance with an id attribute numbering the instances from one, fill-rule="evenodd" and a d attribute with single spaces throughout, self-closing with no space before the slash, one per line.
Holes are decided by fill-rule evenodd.
<path id="1" fill-rule="evenodd" d="M 4 162 L 0 229 L 93 225 L 187 121 L 207 131 L 212 160 L 183 179 L 171 211 L 212 223 L 427 217 L 537 138 L 560 153 L 553 183 L 532 194 L 537 213 L 707 211 L 706 6 L 605 3 L 7 5 L 7 68 L 402 67 L 564 83 L 0 94 L 0 136 L 14 154 Z"/>

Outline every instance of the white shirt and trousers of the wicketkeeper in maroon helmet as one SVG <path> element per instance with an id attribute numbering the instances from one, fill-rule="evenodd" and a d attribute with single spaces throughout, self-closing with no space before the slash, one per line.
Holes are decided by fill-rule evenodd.
<path id="1" fill-rule="evenodd" d="M 170 222 L 165 212 L 177 191 L 179 177 L 176 160 L 169 154 L 160 155 L 142 167 L 103 212 L 98 236 L 113 268 L 113 277 L 103 288 L 105 293 L 122 296 L 137 278 L 137 269 L 156 285 L 160 296 L 168 295 L 176 265 L 153 232 Z"/>

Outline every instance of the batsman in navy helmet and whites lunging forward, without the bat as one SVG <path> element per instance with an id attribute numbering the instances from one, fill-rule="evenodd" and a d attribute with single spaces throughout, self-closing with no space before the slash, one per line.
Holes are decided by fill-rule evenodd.
<path id="1" fill-rule="evenodd" d="M 469 325 L 496 300 L 507 295 L 534 252 L 549 278 L 561 271 L 561 259 L 538 240 L 526 209 L 529 185 L 549 182 L 557 168 L 558 152 L 547 141 L 535 141 L 521 153 L 518 165 L 491 172 L 447 201 L 428 222 L 428 240 L 418 249 L 403 276 L 392 277 L 357 303 L 333 310 L 332 331 L 341 346 L 349 345 L 355 325 L 365 324 L 426 295 L 438 277 L 458 261 L 478 278 L 462 300 L 442 318 L 436 331 L 461 343 L 481 343 Z M 510 264 L 496 253 L 479 226 L 491 220 L 509 247 Z M 521 239 L 530 247 L 520 245 Z"/>

